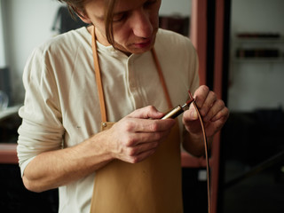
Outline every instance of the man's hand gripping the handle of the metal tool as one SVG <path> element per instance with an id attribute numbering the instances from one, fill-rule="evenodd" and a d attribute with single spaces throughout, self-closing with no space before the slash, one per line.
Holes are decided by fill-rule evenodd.
<path id="1" fill-rule="evenodd" d="M 136 163 L 154 154 L 162 139 L 167 137 L 175 120 L 160 120 L 162 113 L 146 106 L 125 116 L 106 134 L 106 146 L 114 159 Z"/>

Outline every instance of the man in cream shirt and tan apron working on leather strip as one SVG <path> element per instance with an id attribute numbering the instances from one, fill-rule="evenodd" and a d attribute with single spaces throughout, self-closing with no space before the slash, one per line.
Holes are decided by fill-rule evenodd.
<path id="1" fill-rule="evenodd" d="M 201 127 L 193 106 L 178 121 L 160 118 L 171 105 L 185 103 L 188 90 L 194 91 L 209 141 L 228 117 L 224 102 L 206 86 L 198 87 L 192 44 L 184 36 L 158 29 L 161 0 L 64 2 L 91 26 L 51 39 L 28 59 L 18 141 L 24 185 L 35 192 L 59 187 L 59 212 L 89 212 L 90 208 L 108 212 L 104 208 L 111 205 L 104 203 L 114 194 L 110 203 L 120 201 L 109 212 L 146 212 L 143 206 L 162 212 L 157 203 L 175 197 L 177 212 L 182 212 L 180 189 L 175 191 L 180 174 L 168 177 L 166 173 L 178 173 L 180 156 L 170 156 L 179 141 L 165 140 L 181 136 L 185 150 L 201 156 Z M 103 128 L 107 122 L 115 123 L 100 131 L 100 122 Z M 170 166 L 171 162 L 175 164 Z M 117 173 L 111 173 L 117 168 Z M 124 169 L 126 176 L 121 174 Z M 108 177 L 114 178 L 101 184 Z M 156 177 L 160 182 L 165 178 L 164 183 Z M 173 180 L 177 187 L 170 185 Z M 149 193 L 151 184 L 155 186 Z M 102 189 L 97 188 L 100 185 Z M 111 193 L 105 194 L 109 185 Z M 162 185 L 169 186 L 169 192 Z M 161 201 L 154 201 L 155 194 Z"/>

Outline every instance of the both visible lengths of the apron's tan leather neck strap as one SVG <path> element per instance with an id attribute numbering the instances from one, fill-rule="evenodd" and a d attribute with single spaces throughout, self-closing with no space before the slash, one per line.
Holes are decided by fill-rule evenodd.
<path id="1" fill-rule="evenodd" d="M 93 61 L 94 61 L 94 67 L 95 67 L 95 75 L 96 75 L 96 83 L 97 83 L 97 88 L 99 92 L 99 107 L 100 107 L 100 114 L 101 114 L 101 121 L 102 122 L 107 122 L 107 116 L 106 116 L 106 101 L 105 101 L 105 96 L 104 96 L 104 90 L 103 90 L 103 83 L 101 80 L 101 72 L 99 68 L 99 56 L 98 56 L 98 51 L 97 51 L 97 43 L 96 43 L 96 28 L 93 26 L 91 29 L 91 48 L 92 48 L 92 55 L 93 55 Z M 154 59 L 155 66 L 157 68 L 159 77 L 160 77 L 160 82 L 162 83 L 162 89 L 165 93 L 168 106 L 172 108 L 172 104 L 170 101 L 170 94 L 167 89 L 167 85 L 165 83 L 164 77 L 162 75 L 162 67 L 159 63 L 159 59 L 157 58 L 157 54 L 154 51 L 154 48 L 151 50 L 152 56 Z"/>

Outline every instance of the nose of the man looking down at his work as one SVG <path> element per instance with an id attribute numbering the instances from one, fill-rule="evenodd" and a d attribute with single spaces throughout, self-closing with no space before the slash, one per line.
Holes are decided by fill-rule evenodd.
<path id="1" fill-rule="evenodd" d="M 135 36 L 144 38 L 152 36 L 153 24 L 151 23 L 148 12 L 144 9 L 133 12 L 131 28 Z"/>

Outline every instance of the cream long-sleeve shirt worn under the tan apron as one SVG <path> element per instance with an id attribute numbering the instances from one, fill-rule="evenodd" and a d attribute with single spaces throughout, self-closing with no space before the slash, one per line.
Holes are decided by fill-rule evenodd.
<path id="1" fill-rule="evenodd" d="M 199 85 L 192 43 L 185 36 L 159 29 L 154 49 L 172 105 L 184 104 L 187 91 L 193 92 Z M 168 110 L 150 51 L 128 57 L 100 43 L 98 51 L 109 122 L 117 122 L 143 106 Z M 25 67 L 23 83 L 26 97 L 19 112 L 22 124 L 17 149 L 22 175 L 37 154 L 75 146 L 100 130 L 88 30 L 70 31 L 36 48 Z M 95 173 L 60 186 L 59 212 L 89 212 L 94 177 Z"/>

